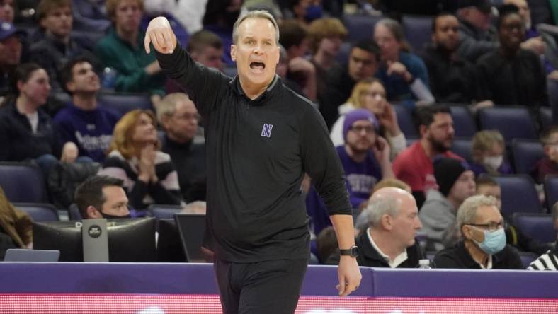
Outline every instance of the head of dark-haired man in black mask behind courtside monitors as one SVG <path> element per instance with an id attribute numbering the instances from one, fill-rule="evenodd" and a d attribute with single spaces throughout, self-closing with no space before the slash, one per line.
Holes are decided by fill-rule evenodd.
<path id="1" fill-rule="evenodd" d="M 84 219 L 130 218 L 123 181 L 106 175 L 93 175 L 76 188 L 74 199 Z"/>

